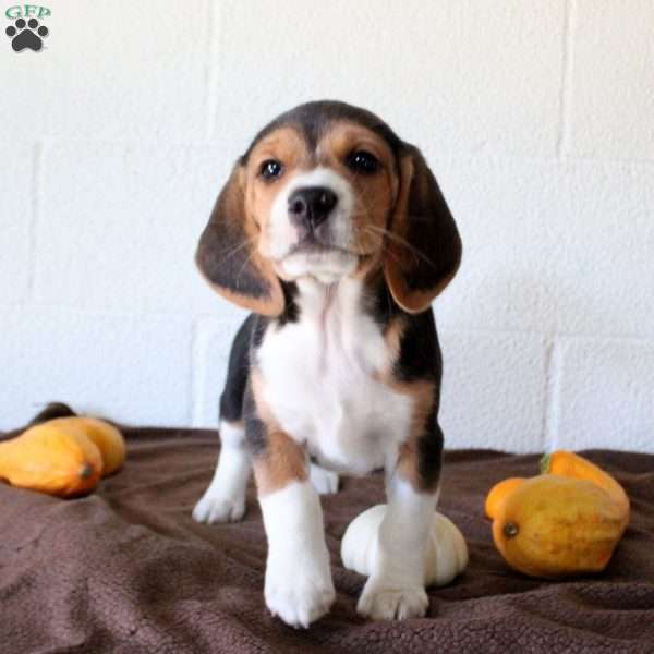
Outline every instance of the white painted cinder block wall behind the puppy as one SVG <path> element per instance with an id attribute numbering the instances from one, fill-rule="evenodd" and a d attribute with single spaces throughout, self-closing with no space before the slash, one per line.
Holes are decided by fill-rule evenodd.
<path id="1" fill-rule="evenodd" d="M 340 98 L 460 227 L 447 445 L 654 451 L 654 2 L 45 4 L 41 52 L 0 34 L 0 428 L 52 399 L 214 425 L 243 314 L 196 239 L 258 128 Z"/>

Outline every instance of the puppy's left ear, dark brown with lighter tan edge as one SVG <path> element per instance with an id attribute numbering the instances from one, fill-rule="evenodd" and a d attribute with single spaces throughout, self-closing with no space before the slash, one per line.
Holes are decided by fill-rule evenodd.
<path id="1" fill-rule="evenodd" d="M 283 311 L 283 292 L 270 262 L 257 250 L 259 228 L 245 210 L 244 178 L 237 164 L 199 238 L 195 262 L 223 298 L 276 317 Z"/>

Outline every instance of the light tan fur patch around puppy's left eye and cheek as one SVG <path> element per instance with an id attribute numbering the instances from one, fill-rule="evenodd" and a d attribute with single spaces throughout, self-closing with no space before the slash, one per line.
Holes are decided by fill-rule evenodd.
<path id="1" fill-rule="evenodd" d="M 268 159 L 276 159 L 283 166 L 283 173 L 274 181 L 266 181 L 259 174 L 262 164 Z M 245 213 L 257 226 L 257 247 L 263 256 L 270 251 L 268 220 L 272 203 L 296 174 L 310 167 L 311 153 L 291 126 L 272 131 L 250 153 L 245 169 Z"/>

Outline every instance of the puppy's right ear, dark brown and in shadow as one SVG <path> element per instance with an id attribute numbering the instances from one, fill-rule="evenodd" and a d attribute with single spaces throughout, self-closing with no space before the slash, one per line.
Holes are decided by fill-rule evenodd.
<path id="1" fill-rule="evenodd" d="M 408 144 L 390 232 L 384 257 L 390 292 L 404 311 L 425 311 L 456 275 L 461 239 L 424 157 Z"/>

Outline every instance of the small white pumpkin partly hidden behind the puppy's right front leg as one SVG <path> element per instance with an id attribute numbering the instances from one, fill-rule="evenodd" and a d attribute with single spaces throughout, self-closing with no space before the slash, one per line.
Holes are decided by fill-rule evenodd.
<path id="1" fill-rule="evenodd" d="M 378 533 L 386 505 L 377 505 L 356 516 L 346 530 L 341 543 L 341 559 L 349 570 L 368 577 L 374 569 L 378 549 Z M 434 524 L 425 552 L 425 586 L 445 585 L 468 565 L 468 547 L 455 523 L 434 513 Z"/>

